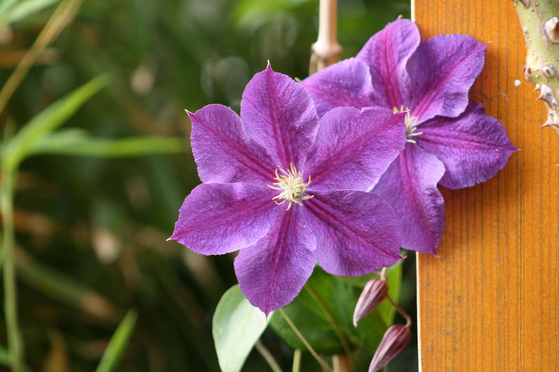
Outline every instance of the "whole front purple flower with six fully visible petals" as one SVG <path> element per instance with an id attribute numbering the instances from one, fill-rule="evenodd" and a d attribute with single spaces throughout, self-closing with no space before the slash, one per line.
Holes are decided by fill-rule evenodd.
<path id="1" fill-rule="evenodd" d="M 268 66 L 247 84 L 240 117 L 222 105 L 190 114 L 203 184 L 170 239 L 205 255 L 240 249 L 240 288 L 266 314 L 296 297 L 316 262 L 343 276 L 393 265 L 398 218 L 365 191 L 404 149 L 404 117 L 338 107 L 319 122 L 305 89 Z"/>

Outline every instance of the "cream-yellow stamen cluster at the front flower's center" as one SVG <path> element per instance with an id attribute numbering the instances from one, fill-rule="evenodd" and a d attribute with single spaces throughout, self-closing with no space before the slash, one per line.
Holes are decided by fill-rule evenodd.
<path id="1" fill-rule="evenodd" d="M 279 190 L 281 193 L 272 198 L 272 200 L 277 205 L 284 204 L 288 202 L 287 211 L 291 208 L 291 204 L 297 203 L 303 205 L 303 200 L 308 200 L 314 195 L 303 196 L 307 190 L 307 186 L 310 184 L 310 176 L 307 182 L 303 182 L 303 176 L 298 172 L 297 168 L 293 163 L 289 164 L 289 170 L 284 170 L 279 165 L 275 170 L 275 181 L 273 184 L 268 185 L 269 188 L 274 190 Z M 276 199 L 281 199 L 281 202 L 277 202 Z"/>

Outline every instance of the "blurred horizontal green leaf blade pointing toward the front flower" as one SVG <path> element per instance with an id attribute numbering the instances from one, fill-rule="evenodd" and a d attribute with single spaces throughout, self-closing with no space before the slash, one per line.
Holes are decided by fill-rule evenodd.
<path id="1" fill-rule="evenodd" d="M 85 131 L 67 129 L 43 137 L 32 149 L 31 154 L 114 158 L 183 152 L 183 137 L 127 137 L 112 140 L 92 138 Z"/>

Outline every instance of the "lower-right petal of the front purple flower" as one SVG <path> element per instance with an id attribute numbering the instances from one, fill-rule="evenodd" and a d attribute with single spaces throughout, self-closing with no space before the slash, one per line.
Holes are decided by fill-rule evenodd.
<path id="1" fill-rule="evenodd" d="M 324 270 L 358 276 L 402 258 L 398 218 L 379 195 L 349 190 L 312 194 L 314 198 L 305 200 L 301 209 L 305 227 L 314 232 L 314 254 Z"/>

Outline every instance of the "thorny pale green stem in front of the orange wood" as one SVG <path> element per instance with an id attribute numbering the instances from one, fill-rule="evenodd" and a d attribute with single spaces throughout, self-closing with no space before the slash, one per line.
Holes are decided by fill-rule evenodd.
<path id="1" fill-rule="evenodd" d="M 524 75 L 546 103 L 543 126 L 559 133 L 559 3 L 549 0 L 513 0 L 528 53 Z"/>

